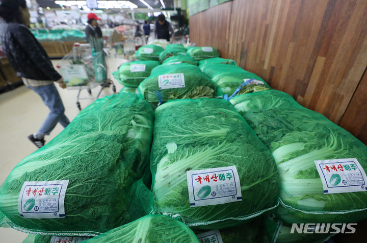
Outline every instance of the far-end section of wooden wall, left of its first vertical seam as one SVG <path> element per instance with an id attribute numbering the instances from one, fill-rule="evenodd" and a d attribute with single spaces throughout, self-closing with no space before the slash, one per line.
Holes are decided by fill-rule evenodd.
<path id="1" fill-rule="evenodd" d="M 229 45 L 231 7 L 230 1 L 190 16 L 190 42 L 196 43 L 196 46 L 215 46 L 225 58 Z"/>

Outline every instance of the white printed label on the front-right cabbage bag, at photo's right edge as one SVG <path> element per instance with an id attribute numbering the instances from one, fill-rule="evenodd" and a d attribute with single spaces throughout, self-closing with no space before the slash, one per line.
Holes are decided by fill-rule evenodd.
<path id="1" fill-rule="evenodd" d="M 367 177 L 357 159 L 315 160 L 324 193 L 367 191 Z"/>

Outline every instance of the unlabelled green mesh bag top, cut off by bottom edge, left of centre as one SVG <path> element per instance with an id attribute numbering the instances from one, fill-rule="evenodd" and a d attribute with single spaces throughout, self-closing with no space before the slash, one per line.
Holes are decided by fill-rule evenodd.
<path id="1" fill-rule="evenodd" d="M 85 243 L 200 243 L 194 232 L 182 222 L 166 215 L 146 215 L 127 225 L 110 230 Z"/>

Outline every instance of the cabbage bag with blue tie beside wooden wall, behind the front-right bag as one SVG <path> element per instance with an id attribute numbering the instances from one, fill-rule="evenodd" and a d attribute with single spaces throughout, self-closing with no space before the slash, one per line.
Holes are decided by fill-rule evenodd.
<path id="1" fill-rule="evenodd" d="M 207 59 L 208 61 L 206 64 L 201 61 L 202 65 L 200 66 L 200 69 L 206 76 L 211 78 L 219 87 L 221 87 L 224 94 L 230 96 L 237 91 L 238 88 L 239 90 L 236 95 L 270 89 L 270 86 L 257 75 L 252 72 L 245 71 L 239 66 L 233 65 L 234 61 L 225 61 L 230 64 L 215 64 L 221 60 L 211 59 Z M 211 64 L 211 62 L 214 64 Z"/>

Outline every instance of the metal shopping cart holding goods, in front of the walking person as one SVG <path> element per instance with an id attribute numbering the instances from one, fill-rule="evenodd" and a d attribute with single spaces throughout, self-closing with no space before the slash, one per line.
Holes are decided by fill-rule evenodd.
<path id="1" fill-rule="evenodd" d="M 74 43 L 73 49 L 57 64 L 61 75 L 66 82 L 67 89 L 78 90 L 76 96 L 76 106 L 82 110 L 80 100 L 96 100 L 104 88 L 112 86 L 112 91 L 116 93 L 116 86 L 110 79 L 110 73 L 106 62 L 106 57 L 110 53 L 106 50 L 92 53 L 90 44 Z M 92 96 L 92 89 L 100 86 L 96 96 Z M 89 96 L 81 97 L 81 91 L 85 89 Z"/>

